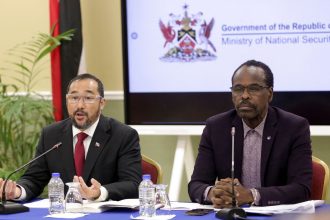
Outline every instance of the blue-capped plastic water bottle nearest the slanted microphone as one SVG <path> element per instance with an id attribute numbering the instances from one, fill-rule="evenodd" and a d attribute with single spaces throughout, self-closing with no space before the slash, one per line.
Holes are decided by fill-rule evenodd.
<path id="1" fill-rule="evenodd" d="M 64 212 L 64 183 L 59 173 L 52 173 L 48 183 L 49 213 Z"/>

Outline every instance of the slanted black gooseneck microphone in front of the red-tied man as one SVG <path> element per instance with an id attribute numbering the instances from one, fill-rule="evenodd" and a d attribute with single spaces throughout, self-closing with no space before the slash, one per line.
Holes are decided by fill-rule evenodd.
<path id="1" fill-rule="evenodd" d="M 7 202 L 7 199 L 6 199 L 6 185 L 7 185 L 7 182 L 9 180 L 9 178 L 13 174 L 15 174 L 18 171 L 22 170 L 23 168 L 25 168 L 26 166 L 30 165 L 31 163 L 33 163 L 34 161 L 38 160 L 39 158 L 45 156 L 46 154 L 48 154 L 52 150 L 57 149 L 61 145 L 62 145 L 61 142 L 55 144 L 52 148 L 50 148 L 47 151 L 43 152 L 39 156 L 33 158 L 32 160 L 30 160 L 29 162 L 27 162 L 23 166 L 17 168 L 16 170 L 14 170 L 13 172 L 11 172 L 7 176 L 7 178 L 4 181 L 3 187 L 2 187 L 2 199 L 1 199 L 1 203 L 0 203 L 0 214 L 13 214 L 13 213 L 19 213 L 19 212 L 27 212 L 27 211 L 29 211 L 29 208 L 28 207 L 26 207 L 26 206 L 24 206 L 24 205 L 22 205 L 20 203 Z"/>

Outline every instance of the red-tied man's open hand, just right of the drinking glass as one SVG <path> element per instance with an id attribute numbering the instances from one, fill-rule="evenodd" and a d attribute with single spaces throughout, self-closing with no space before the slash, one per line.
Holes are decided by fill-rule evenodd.
<path id="1" fill-rule="evenodd" d="M 88 200 L 95 200 L 100 197 L 101 184 L 94 178 L 91 179 L 92 185 L 89 187 L 86 185 L 86 183 L 82 177 L 74 176 L 73 182 L 80 183 L 79 192 L 83 198 L 88 199 Z"/>

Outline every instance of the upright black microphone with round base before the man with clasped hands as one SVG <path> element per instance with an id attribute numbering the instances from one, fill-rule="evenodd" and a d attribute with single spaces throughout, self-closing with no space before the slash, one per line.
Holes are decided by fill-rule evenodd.
<path id="1" fill-rule="evenodd" d="M 215 216 L 223 220 L 245 219 L 246 213 L 244 209 L 237 207 L 235 194 L 235 127 L 231 128 L 231 187 L 232 187 L 232 208 L 220 209 Z"/>

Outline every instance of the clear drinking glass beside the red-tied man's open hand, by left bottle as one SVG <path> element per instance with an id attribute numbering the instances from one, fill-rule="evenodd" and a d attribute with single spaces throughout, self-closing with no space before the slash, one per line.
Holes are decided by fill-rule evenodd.
<path id="1" fill-rule="evenodd" d="M 65 211 L 66 212 L 83 212 L 83 200 L 79 192 L 78 182 L 66 183 L 69 190 L 65 196 Z"/>

